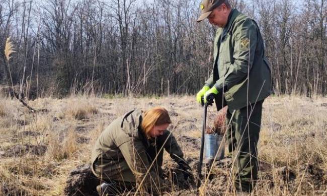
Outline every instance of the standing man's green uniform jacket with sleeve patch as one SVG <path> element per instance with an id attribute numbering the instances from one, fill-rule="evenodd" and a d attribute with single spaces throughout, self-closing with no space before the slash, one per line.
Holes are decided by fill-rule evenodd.
<path id="1" fill-rule="evenodd" d="M 236 9 L 227 25 L 217 29 L 214 67 L 206 86 L 218 90 L 218 110 L 226 104 L 229 111 L 240 109 L 271 94 L 270 65 L 259 27 Z M 222 104 L 222 94 L 227 103 Z"/>

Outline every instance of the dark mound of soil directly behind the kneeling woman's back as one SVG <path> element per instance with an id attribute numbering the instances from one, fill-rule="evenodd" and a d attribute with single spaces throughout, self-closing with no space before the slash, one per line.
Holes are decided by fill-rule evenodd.
<path id="1" fill-rule="evenodd" d="M 100 184 L 91 170 L 91 165 L 84 164 L 72 170 L 67 178 L 65 195 L 98 195 L 96 187 Z"/>

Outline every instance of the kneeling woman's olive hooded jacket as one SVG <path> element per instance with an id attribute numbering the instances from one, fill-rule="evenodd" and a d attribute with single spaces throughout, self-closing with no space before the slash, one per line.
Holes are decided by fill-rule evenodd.
<path id="1" fill-rule="evenodd" d="M 106 172 L 108 175 L 106 178 L 128 182 L 139 182 L 144 178 L 151 164 L 146 155 L 151 144 L 140 128 L 141 121 L 142 111 L 135 109 L 115 119 L 102 132 L 91 156 L 92 171 L 97 177 L 104 177 L 94 168 L 94 163 L 101 158 L 100 169 Z M 164 147 L 177 161 L 178 157 L 183 158 L 183 152 L 174 136 L 170 134 L 169 137 L 170 142 L 166 143 Z M 126 167 L 130 170 L 128 168 L 126 170 Z M 145 183 L 151 183 L 151 180 L 158 179 L 154 171 L 150 170 L 148 173 L 149 176 L 146 176 Z"/>

